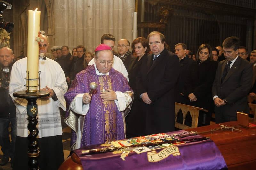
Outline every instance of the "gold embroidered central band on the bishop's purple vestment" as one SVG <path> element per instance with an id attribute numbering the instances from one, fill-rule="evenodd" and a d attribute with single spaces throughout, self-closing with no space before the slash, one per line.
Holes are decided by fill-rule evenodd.
<path id="1" fill-rule="evenodd" d="M 112 90 L 111 76 L 105 75 L 99 77 L 100 91 Z M 105 85 L 106 86 L 105 86 Z M 105 140 L 110 142 L 116 140 L 116 104 L 114 101 L 103 100 L 104 118 L 105 118 Z"/>

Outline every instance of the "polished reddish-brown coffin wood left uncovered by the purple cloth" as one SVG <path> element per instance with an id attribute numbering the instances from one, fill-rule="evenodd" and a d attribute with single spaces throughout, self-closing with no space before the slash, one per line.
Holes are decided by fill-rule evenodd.
<path id="1" fill-rule="evenodd" d="M 238 126 L 237 122 L 220 123 L 229 127 Z M 198 128 L 185 129 L 187 131 L 204 132 L 210 129 L 220 128 L 220 125 L 210 125 Z M 244 128 L 236 127 L 240 131 L 217 130 L 212 134 L 210 132 L 200 135 L 211 137 L 215 144 L 220 149 L 228 169 L 256 169 L 256 127 Z M 80 159 L 76 154 L 68 157 L 60 166 L 60 170 L 82 170 Z"/>

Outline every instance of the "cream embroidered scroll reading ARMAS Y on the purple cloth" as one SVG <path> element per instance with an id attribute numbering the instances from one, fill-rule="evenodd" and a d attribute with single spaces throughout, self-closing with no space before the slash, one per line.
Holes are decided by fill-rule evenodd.
<path id="1" fill-rule="evenodd" d="M 177 146 L 170 146 L 170 147 L 164 148 L 162 151 L 158 153 L 156 151 L 151 151 L 147 153 L 148 162 L 158 162 L 160 160 L 167 158 L 170 155 L 173 155 L 173 156 L 180 155 L 179 148 Z"/>

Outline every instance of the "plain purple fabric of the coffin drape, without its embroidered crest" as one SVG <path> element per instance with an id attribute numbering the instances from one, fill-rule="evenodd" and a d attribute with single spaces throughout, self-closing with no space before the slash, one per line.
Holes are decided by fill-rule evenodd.
<path id="1" fill-rule="evenodd" d="M 176 132 L 166 133 L 168 135 L 184 132 L 179 130 Z M 189 136 L 186 138 L 200 137 Z M 182 138 L 183 139 L 183 138 Z M 113 169 L 200 169 L 200 170 L 217 170 L 228 169 L 220 150 L 210 139 L 197 142 L 187 142 L 185 144 L 176 145 L 179 148 L 180 155 L 172 156 L 162 159 L 158 162 L 149 162 L 147 152 L 137 154 L 135 152 L 129 153 L 125 157 L 125 161 L 120 158 L 120 154 L 113 154 L 112 152 L 95 153 L 90 155 L 81 155 L 82 150 L 94 147 L 84 147 L 74 150 L 76 155 L 81 160 L 83 169 L 100 169 L 104 167 L 105 170 Z M 102 148 L 103 146 L 96 146 Z M 157 153 L 163 148 L 155 150 Z"/>

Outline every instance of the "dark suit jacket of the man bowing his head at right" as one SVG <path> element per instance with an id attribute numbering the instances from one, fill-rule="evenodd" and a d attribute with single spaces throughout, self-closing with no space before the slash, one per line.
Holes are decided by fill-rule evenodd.
<path id="1" fill-rule="evenodd" d="M 216 107 L 215 113 L 222 113 L 236 117 L 236 112 L 249 112 L 247 94 L 252 87 L 253 68 L 248 61 L 238 57 L 221 83 L 223 70 L 227 60 L 219 63 L 215 80 L 212 86 L 212 97 L 217 95 L 220 99 L 226 99 L 227 104 Z"/>

